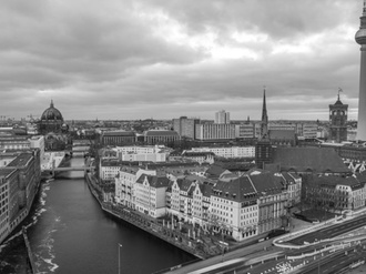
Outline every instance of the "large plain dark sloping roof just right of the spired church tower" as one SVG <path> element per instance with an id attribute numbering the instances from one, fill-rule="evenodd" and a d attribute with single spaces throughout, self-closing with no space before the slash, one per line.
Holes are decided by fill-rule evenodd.
<path id="1" fill-rule="evenodd" d="M 282 171 L 348 173 L 349 170 L 333 148 L 276 148 L 273 163 Z"/>

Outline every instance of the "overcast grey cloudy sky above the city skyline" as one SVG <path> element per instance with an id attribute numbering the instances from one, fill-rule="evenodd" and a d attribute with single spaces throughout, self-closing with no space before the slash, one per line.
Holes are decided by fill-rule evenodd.
<path id="1" fill-rule="evenodd" d="M 357 119 L 363 0 L 1 0 L 0 115 Z"/>

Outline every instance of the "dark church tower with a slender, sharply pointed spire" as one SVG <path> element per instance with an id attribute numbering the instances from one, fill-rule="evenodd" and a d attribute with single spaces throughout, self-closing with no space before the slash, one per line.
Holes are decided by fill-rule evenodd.
<path id="1" fill-rule="evenodd" d="M 261 134 L 258 141 L 255 144 L 255 163 L 258 169 L 264 169 L 264 165 L 271 162 L 272 162 L 272 145 L 268 136 L 268 115 L 267 115 L 267 105 L 266 105 L 265 89 L 264 89 Z"/>

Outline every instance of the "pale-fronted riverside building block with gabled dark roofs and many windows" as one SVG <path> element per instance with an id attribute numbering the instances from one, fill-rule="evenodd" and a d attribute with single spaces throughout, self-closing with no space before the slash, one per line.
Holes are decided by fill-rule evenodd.
<path id="1" fill-rule="evenodd" d="M 265 172 L 207 179 L 195 171 L 172 175 L 167 168 L 122 166 L 114 179 L 115 202 L 151 217 L 171 214 L 236 241 L 285 225 L 287 186 L 297 177 Z"/>

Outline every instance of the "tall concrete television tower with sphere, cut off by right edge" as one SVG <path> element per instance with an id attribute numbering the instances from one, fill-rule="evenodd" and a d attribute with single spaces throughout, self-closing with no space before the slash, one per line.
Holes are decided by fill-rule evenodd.
<path id="1" fill-rule="evenodd" d="M 359 19 L 360 27 L 355 35 L 356 42 L 360 44 L 357 140 L 366 141 L 366 0 Z"/>

